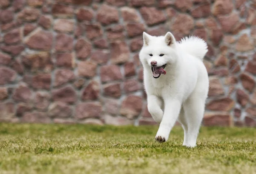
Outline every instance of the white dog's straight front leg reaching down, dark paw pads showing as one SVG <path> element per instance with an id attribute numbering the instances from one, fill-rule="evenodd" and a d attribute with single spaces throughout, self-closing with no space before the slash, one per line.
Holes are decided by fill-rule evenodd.
<path id="1" fill-rule="evenodd" d="M 164 102 L 165 109 L 163 113 L 163 119 L 160 123 L 157 135 L 155 137 L 155 140 L 157 140 L 160 143 L 163 143 L 168 140 L 170 131 L 172 130 L 172 127 L 175 125 L 181 107 L 181 103 L 179 100 L 164 100 Z"/>

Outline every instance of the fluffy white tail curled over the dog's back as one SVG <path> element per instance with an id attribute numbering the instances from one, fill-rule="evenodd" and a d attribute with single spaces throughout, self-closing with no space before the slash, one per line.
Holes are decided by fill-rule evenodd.
<path id="1" fill-rule="evenodd" d="M 207 43 L 196 36 L 184 37 L 180 41 L 180 46 L 183 51 L 186 51 L 192 56 L 198 57 L 200 60 L 204 60 L 204 56 L 207 53 Z"/>

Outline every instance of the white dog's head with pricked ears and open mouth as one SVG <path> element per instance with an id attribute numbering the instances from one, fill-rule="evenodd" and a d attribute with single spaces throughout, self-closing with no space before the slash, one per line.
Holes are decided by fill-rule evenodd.
<path id="1" fill-rule="evenodd" d="M 140 51 L 140 61 L 144 68 L 150 68 L 153 77 L 159 78 L 168 72 L 168 66 L 176 62 L 176 40 L 172 33 L 165 36 L 151 36 L 143 32 L 143 47 Z"/>

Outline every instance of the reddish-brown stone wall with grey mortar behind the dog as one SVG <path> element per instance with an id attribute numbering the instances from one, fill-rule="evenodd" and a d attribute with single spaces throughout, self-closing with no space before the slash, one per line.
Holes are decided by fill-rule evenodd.
<path id="1" fill-rule="evenodd" d="M 0 0 L 0 120 L 155 124 L 143 31 L 204 38 L 205 126 L 256 126 L 255 0 Z"/>

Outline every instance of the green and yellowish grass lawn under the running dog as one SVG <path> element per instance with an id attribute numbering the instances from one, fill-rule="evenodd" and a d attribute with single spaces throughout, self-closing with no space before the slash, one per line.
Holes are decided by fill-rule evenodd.
<path id="1" fill-rule="evenodd" d="M 196 148 L 175 127 L 157 143 L 157 127 L 0 123 L 1 174 L 253 174 L 255 128 L 200 130 Z"/>

